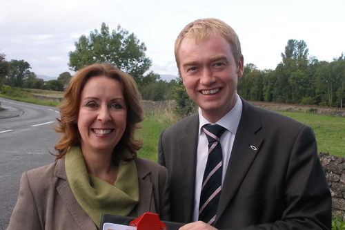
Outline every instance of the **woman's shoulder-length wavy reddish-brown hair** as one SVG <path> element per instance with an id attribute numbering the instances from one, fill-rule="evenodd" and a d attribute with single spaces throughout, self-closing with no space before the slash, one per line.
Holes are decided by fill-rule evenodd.
<path id="1" fill-rule="evenodd" d="M 122 72 L 110 64 L 93 64 L 79 70 L 70 80 L 63 95 L 60 108 L 61 119 L 57 119 L 58 126 L 54 130 L 62 133 L 59 142 L 55 145 L 58 152 L 56 160 L 66 155 L 70 146 L 80 144 L 80 134 L 77 127 L 77 119 L 80 107 L 80 95 L 83 87 L 91 77 L 106 76 L 121 83 L 122 93 L 127 104 L 126 130 L 121 140 L 113 151 L 113 160 L 134 160 L 137 157 L 136 151 L 142 147 L 142 142 L 135 140 L 134 133 L 138 128 L 137 124 L 143 120 L 143 108 L 141 107 L 141 95 L 137 89 L 135 80 L 127 73 Z M 124 149 L 132 153 L 131 159 L 124 157 Z"/>

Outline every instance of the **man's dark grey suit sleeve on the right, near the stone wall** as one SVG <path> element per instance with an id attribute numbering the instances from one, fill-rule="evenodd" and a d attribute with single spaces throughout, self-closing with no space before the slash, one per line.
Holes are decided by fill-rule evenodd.
<path id="1" fill-rule="evenodd" d="M 331 229 L 331 192 L 317 157 L 315 135 L 308 126 L 295 140 L 286 175 L 282 219 L 246 229 Z"/>

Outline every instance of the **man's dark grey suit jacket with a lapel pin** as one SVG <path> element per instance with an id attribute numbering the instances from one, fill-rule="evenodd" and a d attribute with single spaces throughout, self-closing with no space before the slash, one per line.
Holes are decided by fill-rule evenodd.
<path id="1" fill-rule="evenodd" d="M 331 193 L 313 130 L 242 102 L 215 227 L 331 229 Z M 198 128 L 193 115 L 159 137 L 159 164 L 168 169 L 175 222 L 192 221 Z"/>

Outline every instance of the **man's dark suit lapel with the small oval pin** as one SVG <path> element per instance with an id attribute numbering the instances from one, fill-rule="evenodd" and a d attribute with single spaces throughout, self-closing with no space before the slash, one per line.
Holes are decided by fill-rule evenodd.
<path id="1" fill-rule="evenodd" d="M 246 177 L 246 173 L 259 153 L 259 148 L 263 140 L 262 137 L 255 135 L 262 127 L 255 107 L 244 100 L 242 100 L 242 104 L 242 117 L 237 128 L 233 150 L 231 151 L 228 169 L 226 170 L 221 189 L 215 222 L 220 218 L 228 203 L 239 189 L 239 186 L 241 186 L 242 181 Z"/>

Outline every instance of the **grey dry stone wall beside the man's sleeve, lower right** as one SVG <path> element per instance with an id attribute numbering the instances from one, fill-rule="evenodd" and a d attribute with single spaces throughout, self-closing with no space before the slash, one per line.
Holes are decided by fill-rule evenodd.
<path id="1" fill-rule="evenodd" d="M 332 194 L 333 212 L 345 220 L 345 158 L 319 153 Z"/>

